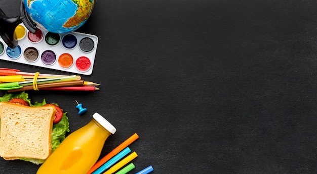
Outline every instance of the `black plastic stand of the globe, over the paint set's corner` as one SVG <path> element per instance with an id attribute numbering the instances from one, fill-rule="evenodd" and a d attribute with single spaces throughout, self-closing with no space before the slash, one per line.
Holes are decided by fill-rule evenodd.
<path id="1" fill-rule="evenodd" d="M 26 10 L 24 8 L 23 0 L 21 1 L 20 5 L 20 16 L 8 17 L 0 9 L 0 36 L 5 41 L 5 43 L 11 48 L 15 48 L 18 46 L 18 39 L 14 31 L 16 27 L 22 22 L 30 32 L 35 33 L 36 24 L 27 15 Z"/>

